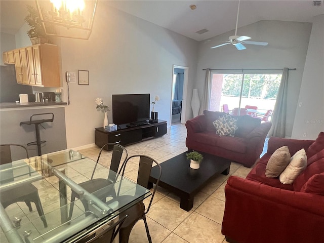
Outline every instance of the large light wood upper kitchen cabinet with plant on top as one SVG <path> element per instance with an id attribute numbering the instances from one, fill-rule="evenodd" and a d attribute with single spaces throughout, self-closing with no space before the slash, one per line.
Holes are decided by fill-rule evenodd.
<path id="1" fill-rule="evenodd" d="M 17 83 L 39 87 L 60 87 L 58 47 L 38 44 L 13 50 Z"/>

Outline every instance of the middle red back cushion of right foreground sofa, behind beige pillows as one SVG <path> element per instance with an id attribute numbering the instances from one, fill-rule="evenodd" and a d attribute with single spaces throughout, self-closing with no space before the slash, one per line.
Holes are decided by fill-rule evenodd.
<path id="1" fill-rule="evenodd" d="M 307 166 L 306 169 L 296 178 L 293 183 L 294 191 L 300 191 L 304 184 L 313 175 L 324 172 L 324 158 L 314 161 L 311 165 Z"/>

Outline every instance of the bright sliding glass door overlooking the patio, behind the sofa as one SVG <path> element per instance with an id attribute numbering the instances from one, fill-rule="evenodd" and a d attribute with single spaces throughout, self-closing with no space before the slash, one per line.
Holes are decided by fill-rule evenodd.
<path id="1" fill-rule="evenodd" d="M 210 110 L 262 117 L 274 109 L 281 74 L 212 73 Z M 247 110 L 246 110 L 247 108 Z"/>

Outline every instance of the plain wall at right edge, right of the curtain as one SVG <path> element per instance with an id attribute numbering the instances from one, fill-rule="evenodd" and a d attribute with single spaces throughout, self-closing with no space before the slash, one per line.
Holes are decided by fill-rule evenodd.
<path id="1" fill-rule="evenodd" d="M 292 137 L 315 139 L 324 131 L 324 15 L 313 20 Z M 306 138 L 303 134 L 306 133 Z"/>

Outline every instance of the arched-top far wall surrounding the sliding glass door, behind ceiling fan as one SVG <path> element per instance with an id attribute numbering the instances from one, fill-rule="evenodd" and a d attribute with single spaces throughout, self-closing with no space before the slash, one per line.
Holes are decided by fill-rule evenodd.
<path id="1" fill-rule="evenodd" d="M 295 121 L 300 84 L 302 80 L 311 23 L 287 21 L 259 21 L 237 30 L 238 35 L 252 37 L 251 41 L 268 42 L 268 46 L 246 45 L 238 51 L 232 45 L 210 49 L 227 41 L 234 30 L 199 43 L 197 82 L 194 88 L 203 95 L 206 68 L 297 68 L 289 72 L 288 115 L 286 136 L 291 137 Z"/>

